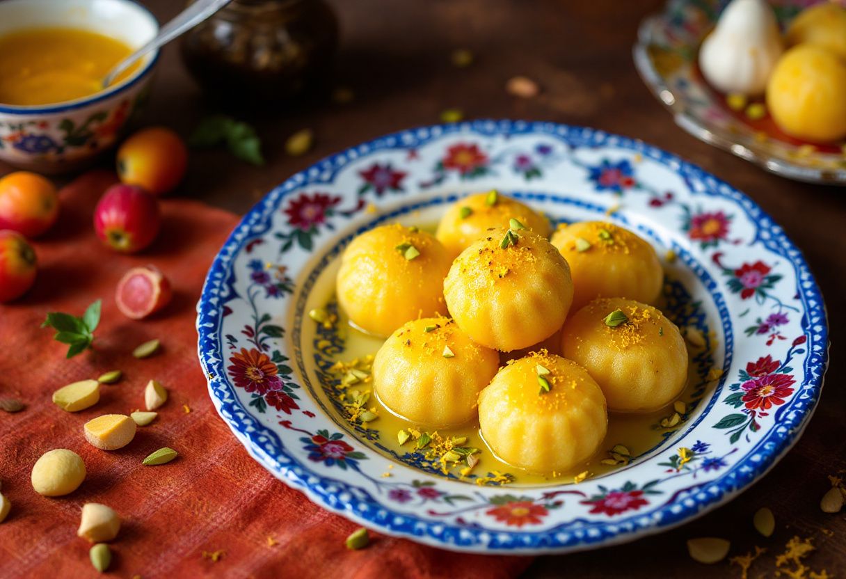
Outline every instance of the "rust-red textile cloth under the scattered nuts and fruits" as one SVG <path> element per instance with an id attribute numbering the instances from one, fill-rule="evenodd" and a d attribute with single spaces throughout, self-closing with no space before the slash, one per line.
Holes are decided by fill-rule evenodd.
<path id="1" fill-rule="evenodd" d="M 113 507 L 124 518 L 111 543 L 115 576 L 148 577 L 510 577 L 528 558 L 453 554 L 371 533 L 368 549 L 349 551 L 356 525 L 322 510 L 288 488 L 247 455 L 214 411 L 196 356 L 195 304 L 212 257 L 237 223 L 235 215 L 197 201 L 162 201 L 163 228 L 140 256 L 121 256 L 93 233 L 91 212 L 113 174 L 85 174 L 62 193 L 57 226 L 34 243 L 35 286 L 19 301 L 0 305 L 0 398 L 26 408 L 0 411 L 0 480 L 12 503 L 0 523 L 0 576 L 95 576 L 89 543 L 76 537 L 86 502 Z M 153 263 L 170 278 L 173 301 L 155 317 L 131 322 L 114 303 L 118 278 L 129 267 Z M 39 328 L 47 311 L 81 315 L 102 298 L 95 350 L 71 360 L 67 348 Z M 135 360 L 147 339 L 162 350 Z M 124 379 L 102 385 L 93 407 L 68 413 L 51 402 L 53 390 L 120 369 Z M 85 442 L 83 424 L 107 413 L 143 407 L 146 382 L 170 393 L 156 422 L 112 452 Z M 153 450 L 170 446 L 179 458 L 142 466 Z M 47 498 L 30 485 L 30 471 L 50 449 L 78 453 L 87 469 L 82 486 Z M 222 551 L 214 562 L 206 554 Z"/>

